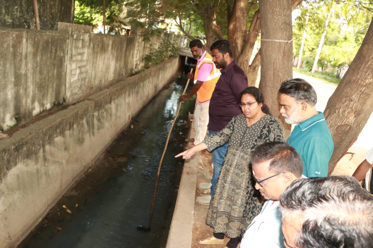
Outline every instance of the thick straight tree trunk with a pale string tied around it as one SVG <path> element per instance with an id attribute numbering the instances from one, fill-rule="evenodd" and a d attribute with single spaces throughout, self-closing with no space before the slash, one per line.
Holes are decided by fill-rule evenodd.
<path id="1" fill-rule="evenodd" d="M 259 8 L 262 53 L 259 88 L 287 138 L 291 125 L 286 124 L 279 113 L 277 94 L 281 82 L 292 78 L 291 0 L 261 0 Z"/>

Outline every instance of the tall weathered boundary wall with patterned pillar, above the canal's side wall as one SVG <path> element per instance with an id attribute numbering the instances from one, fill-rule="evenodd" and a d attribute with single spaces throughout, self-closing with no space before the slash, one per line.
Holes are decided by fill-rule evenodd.
<path id="1" fill-rule="evenodd" d="M 58 31 L 0 28 L 0 131 L 128 77 L 162 37 L 144 42 L 62 22 Z M 176 37 L 184 44 L 184 36 Z"/>

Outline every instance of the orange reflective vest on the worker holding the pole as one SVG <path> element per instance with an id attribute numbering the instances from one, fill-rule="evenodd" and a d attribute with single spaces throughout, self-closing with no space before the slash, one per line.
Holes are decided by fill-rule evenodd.
<path id="1" fill-rule="evenodd" d="M 216 68 L 214 62 L 212 62 L 212 57 L 210 54 L 206 53 L 202 61 L 197 63 L 194 73 L 194 83 L 197 83 L 197 75 L 203 63 L 210 63 L 213 65 L 213 70 L 210 72 L 210 75 L 206 78 L 206 81 L 203 82 L 201 88 L 197 91 L 197 99 L 200 103 L 206 102 L 211 99 L 212 93 L 215 89 L 217 80 L 219 79 L 221 73 L 219 69 Z"/>

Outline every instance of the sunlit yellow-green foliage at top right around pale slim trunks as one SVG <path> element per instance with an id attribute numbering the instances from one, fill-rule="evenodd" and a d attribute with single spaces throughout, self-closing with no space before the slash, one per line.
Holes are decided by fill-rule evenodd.
<path id="1" fill-rule="evenodd" d="M 318 66 L 329 64 L 337 72 L 354 59 L 372 19 L 373 1 L 304 1 L 293 27 L 294 56 L 299 55 L 303 30 L 306 29 L 302 60 L 311 69 L 326 16 L 332 11 Z M 362 11 L 364 10 L 364 11 Z M 309 16 L 308 24 L 305 20 Z M 312 62 L 311 62 L 312 61 Z"/>

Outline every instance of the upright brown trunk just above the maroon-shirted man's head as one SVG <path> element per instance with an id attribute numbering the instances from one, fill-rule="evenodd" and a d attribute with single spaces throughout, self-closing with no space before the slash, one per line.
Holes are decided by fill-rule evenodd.
<path id="1" fill-rule="evenodd" d="M 233 58 L 238 57 L 245 45 L 247 36 L 247 0 L 235 0 L 235 46 L 233 49 Z"/>

